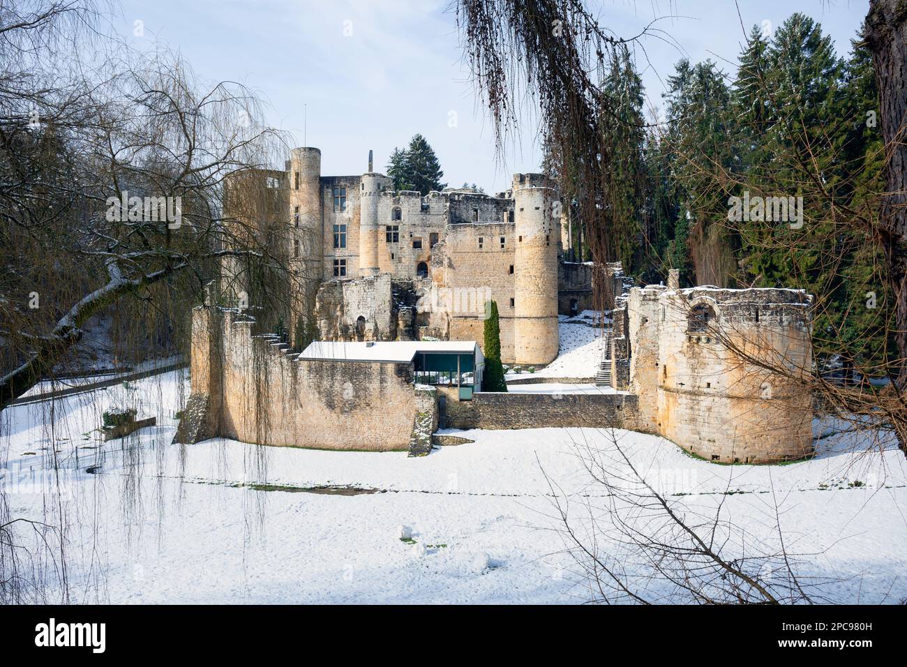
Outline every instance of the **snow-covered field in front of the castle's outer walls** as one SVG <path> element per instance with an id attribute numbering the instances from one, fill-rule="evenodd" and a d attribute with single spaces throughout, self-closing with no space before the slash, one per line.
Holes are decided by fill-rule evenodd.
<path id="1" fill-rule="evenodd" d="M 780 523 L 788 549 L 811 554 L 799 573 L 829 578 L 824 597 L 907 598 L 907 466 L 892 446 L 867 449 L 864 436 L 825 437 L 814 460 L 786 466 L 717 466 L 656 436 L 617 431 L 615 445 L 579 428 L 458 432 L 475 442 L 424 458 L 222 439 L 178 446 L 180 377 L 63 399 L 53 420 L 50 403 L 2 413 L 9 513 L 63 518 L 73 602 L 585 602 L 551 485 L 582 534 L 588 507 L 598 512 L 606 495 L 584 457 L 617 446 L 681 513 L 721 505 L 769 551 Z M 123 404 L 159 426 L 102 443 L 93 429 L 103 409 Z M 45 472 L 54 456 L 59 486 Z M 321 486 L 346 495 L 302 491 Z M 400 525 L 414 544 L 399 539 Z M 607 536 L 599 547 L 622 548 Z M 659 597 L 670 593 L 659 582 L 646 593 L 683 599 Z"/>

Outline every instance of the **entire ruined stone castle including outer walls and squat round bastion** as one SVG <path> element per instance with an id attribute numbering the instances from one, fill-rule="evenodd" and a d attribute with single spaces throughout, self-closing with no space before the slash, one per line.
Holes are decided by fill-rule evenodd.
<path id="1" fill-rule="evenodd" d="M 285 172 L 244 178 L 268 181 L 249 216 L 277 221 L 301 279 L 290 323 L 316 327 L 319 342 L 300 353 L 253 333 L 254 306 L 210 294 L 193 312 L 181 442 L 421 455 L 442 423 L 626 428 L 720 463 L 812 454 L 812 299 L 802 290 L 681 289 L 676 270 L 667 286 L 631 287 L 617 264 L 565 262 L 557 192 L 540 174 L 516 174 L 494 197 L 423 197 L 371 171 L 321 176 L 320 152 L 299 148 Z M 224 263 L 221 290 L 241 288 L 240 269 Z M 612 390 L 483 392 L 485 304 L 500 307 L 502 359 L 544 365 L 558 355 L 559 311 L 589 308 L 593 280 L 619 293 L 602 361 Z"/>

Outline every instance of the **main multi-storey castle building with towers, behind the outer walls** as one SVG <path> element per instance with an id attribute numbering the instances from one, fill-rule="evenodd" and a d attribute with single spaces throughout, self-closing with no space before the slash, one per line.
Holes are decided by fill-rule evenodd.
<path id="1" fill-rule="evenodd" d="M 561 202 L 541 174 L 514 174 L 495 196 L 447 189 L 395 191 L 371 171 L 324 176 L 317 148 L 296 148 L 285 172 L 262 172 L 289 223 L 291 339 L 483 341 L 486 304 L 498 304 L 502 361 L 551 362 L 558 314 L 591 307 L 589 265 L 564 262 Z M 569 242 L 568 242 L 569 245 Z M 235 260 L 229 289 L 243 289 Z"/>

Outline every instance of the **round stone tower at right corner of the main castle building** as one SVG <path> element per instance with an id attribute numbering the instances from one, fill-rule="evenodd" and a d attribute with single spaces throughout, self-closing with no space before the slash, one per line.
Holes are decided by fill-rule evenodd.
<path id="1" fill-rule="evenodd" d="M 541 174 L 516 174 L 513 200 L 514 357 L 518 364 L 547 364 L 558 356 L 557 196 Z"/>

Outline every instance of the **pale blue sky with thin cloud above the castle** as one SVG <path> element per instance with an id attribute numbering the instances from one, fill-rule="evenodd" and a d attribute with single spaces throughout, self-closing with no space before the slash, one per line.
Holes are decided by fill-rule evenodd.
<path id="1" fill-rule="evenodd" d="M 650 103 L 661 104 L 662 81 L 678 59 L 736 62 L 744 39 L 733 0 L 590 1 L 615 34 L 639 33 L 655 16 L 667 33 L 644 39 L 639 70 Z M 177 49 L 200 76 L 246 83 L 268 104 L 266 123 L 293 132 L 322 152 L 322 173 L 375 170 L 414 132 L 434 146 L 451 185 L 477 182 L 500 191 L 512 172 L 537 171 L 536 122 L 527 115 L 506 163 L 495 161 L 493 132 L 461 62 L 449 0 L 122 0 L 122 33 L 137 48 L 157 39 Z M 748 30 L 782 23 L 796 11 L 811 15 L 850 50 L 868 0 L 740 0 Z M 141 20 L 145 36 L 135 37 Z M 345 34 L 346 32 L 346 34 Z M 455 114 L 455 126 L 451 119 Z"/>

